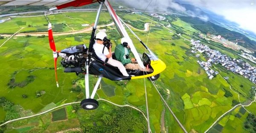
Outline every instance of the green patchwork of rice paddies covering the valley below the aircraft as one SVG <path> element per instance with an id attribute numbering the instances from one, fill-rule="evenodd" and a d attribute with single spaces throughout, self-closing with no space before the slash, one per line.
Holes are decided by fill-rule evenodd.
<path id="1" fill-rule="evenodd" d="M 70 12 L 47 16 L 49 21 L 55 25 L 53 31 L 64 32 L 72 30 L 81 30 L 82 24 L 92 24 L 96 12 Z M 123 14 L 123 20 L 127 21 L 134 28 L 141 29 L 143 23 L 150 23 L 151 17 L 138 14 Z M 111 23 L 109 14 L 102 12 L 101 24 Z M 143 16 L 143 17 L 142 17 Z M 167 17 L 172 31 L 184 34 L 181 37 L 190 39 L 194 32 L 200 32 L 192 28 L 188 23 L 178 19 L 176 16 L 169 15 Z M 140 21 L 140 23 L 133 23 Z M 135 33 L 144 40 L 146 45 L 166 63 L 166 70 L 161 73 L 160 79 L 154 83 L 162 96 L 166 99 L 169 107 L 172 108 L 177 118 L 184 125 L 186 130 L 196 131 L 198 133 L 205 132 L 222 114 L 233 108 L 233 101 L 241 101 L 241 104 L 247 104 L 252 100 L 250 98 L 250 89 L 255 86 L 252 82 L 229 71 L 225 71 L 216 65 L 215 69 L 220 72 L 212 80 L 208 79 L 206 72 L 201 69 L 196 62 L 198 58 L 192 54 L 190 42 L 177 37 L 174 33 L 166 28 L 157 27 L 155 24 L 162 24 L 161 21 L 152 21 L 150 34 L 148 32 L 135 30 Z M 168 22 L 168 23 L 169 23 Z M 167 22 L 164 22 L 166 24 Z M 47 20 L 43 17 L 12 18 L 0 24 L 0 34 L 13 34 L 20 28 L 20 32 L 38 32 L 47 28 Z M 28 27 L 32 25 L 32 27 Z M 143 25 L 144 26 L 144 25 Z M 119 43 L 120 35 L 116 33 L 113 26 L 107 28 L 108 38 L 116 39 L 113 41 L 113 48 Z M 128 32 L 129 33 L 129 32 Z M 130 34 L 130 33 L 129 33 Z M 79 38 L 79 39 L 78 39 Z M 90 34 L 70 34 L 55 36 L 55 43 L 58 50 L 67 48 L 71 45 L 79 45 L 85 43 L 88 46 Z M 137 51 L 145 52 L 140 42 L 131 35 Z M 146 41 L 148 39 L 148 42 Z M 0 45 L 5 39 L 0 40 Z M 226 51 L 228 52 L 228 51 Z M 232 53 L 233 54 L 233 53 Z M 202 57 L 200 57 L 202 58 Z M 60 61 L 58 61 L 60 62 Z M 22 111 L 30 112 L 28 114 L 40 113 L 58 105 L 81 101 L 79 95 L 84 93 L 73 92 L 73 80 L 77 79 L 76 74 L 67 74 L 63 72 L 63 68 L 58 63 L 58 78 L 60 88 L 55 85 L 55 77 L 53 68 L 52 51 L 49 49 L 47 37 L 12 37 L 3 46 L 0 47 L 0 97 L 5 97 L 15 105 L 20 105 Z M 226 81 L 223 77 L 233 77 Z M 32 82 L 27 82 L 28 77 L 34 77 Z M 12 84 L 9 84 L 12 81 Z M 96 83 L 96 77 L 90 76 L 90 87 Z M 84 79 L 77 81 L 78 85 L 84 87 Z M 241 85 L 243 87 L 241 87 Z M 10 87 L 10 85 L 16 85 Z M 145 80 L 148 95 L 148 107 L 150 126 L 153 133 L 182 133 L 177 122 L 163 105 L 153 84 L 147 79 Z M 97 91 L 96 98 L 106 99 L 117 105 L 131 105 L 146 114 L 145 106 L 145 90 L 144 79 L 136 79 L 131 81 L 114 82 L 103 78 L 100 88 Z M 224 96 L 225 90 L 229 91 L 232 96 Z M 44 92 L 37 97 L 38 92 Z M 240 99 L 238 94 L 240 95 Z M 27 97 L 24 98 L 23 94 Z M 83 98 L 85 96 L 82 96 Z M 146 131 L 146 121 L 142 113 L 137 110 L 125 107 L 117 107 L 105 101 L 99 101 L 99 108 L 96 110 L 77 109 L 76 106 L 66 106 L 61 110 L 64 122 L 58 122 L 61 116 L 60 110 L 46 113 L 30 119 L 20 120 L 10 123 L 6 126 L 6 133 L 23 133 L 23 132 L 57 132 L 73 128 L 84 128 L 81 130 L 90 131 L 97 126 L 103 128 L 106 124 L 103 119 L 112 118 L 118 112 L 125 112 L 131 118 L 122 116 L 122 119 L 116 119 L 120 127 L 127 125 L 127 122 L 134 122 L 129 130 L 133 133 L 142 133 Z M 79 108 L 79 107 L 78 107 Z M 256 103 L 252 103 L 246 108 L 250 113 L 256 114 Z M 230 113 L 222 117 L 209 130 L 209 133 L 247 133 L 249 132 L 243 127 L 248 112 L 238 106 Z M 59 112 L 58 112 L 59 111 Z M 116 112 L 116 113 L 115 113 Z M 65 114 L 65 115 L 64 115 Z M 0 121 L 6 118 L 6 110 L 0 107 Z M 56 120 L 53 120 L 55 119 Z M 64 120 L 64 119 L 60 119 Z M 56 122 L 53 122 L 56 121 Z M 116 124 L 116 123 L 115 123 Z M 112 125 L 114 125 L 112 123 Z M 13 129 L 15 128 L 15 129 Z M 98 130 L 96 128 L 93 128 Z M 108 128 L 104 127 L 105 132 Z M 127 132 L 128 133 L 128 132 Z M 130 133 L 130 132 L 129 132 Z"/>

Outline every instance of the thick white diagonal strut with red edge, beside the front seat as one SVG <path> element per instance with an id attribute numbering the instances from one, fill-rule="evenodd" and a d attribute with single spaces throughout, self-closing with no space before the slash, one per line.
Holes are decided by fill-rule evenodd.
<path id="1" fill-rule="evenodd" d="M 105 6 L 107 7 L 108 12 L 110 13 L 114 23 L 116 24 L 116 27 L 118 28 L 118 31 L 121 34 L 121 36 L 129 39 L 128 44 L 131 48 L 131 52 L 134 54 L 134 57 L 136 58 L 136 60 L 138 62 L 138 64 L 140 65 L 140 67 L 144 68 L 143 62 L 141 61 L 140 56 L 139 56 L 131 38 L 129 37 L 127 31 L 125 30 L 125 27 L 122 25 L 121 21 L 119 20 L 118 16 L 116 15 L 116 11 L 110 5 L 108 0 L 105 1 Z"/>

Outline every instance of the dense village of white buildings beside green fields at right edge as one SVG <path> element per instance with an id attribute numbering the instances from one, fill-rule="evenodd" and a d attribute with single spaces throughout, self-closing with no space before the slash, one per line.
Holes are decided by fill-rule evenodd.
<path id="1" fill-rule="evenodd" d="M 197 61 L 202 68 L 206 71 L 209 79 L 212 79 L 215 75 L 218 74 L 218 71 L 211 69 L 212 64 L 220 64 L 227 70 L 232 71 L 233 73 L 240 74 L 245 78 L 249 79 L 251 82 L 256 83 L 256 68 L 251 66 L 249 63 L 244 62 L 242 59 L 232 59 L 227 55 L 221 54 L 217 50 L 209 48 L 207 45 L 201 44 L 200 40 L 190 40 L 192 47 L 192 53 L 196 54 L 197 52 L 202 53 L 207 59 L 204 61 Z M 199 57 L 200 54 L 196 54 L 196 57 Z M 229 77 L 224 77 L 226 80 Z"/>

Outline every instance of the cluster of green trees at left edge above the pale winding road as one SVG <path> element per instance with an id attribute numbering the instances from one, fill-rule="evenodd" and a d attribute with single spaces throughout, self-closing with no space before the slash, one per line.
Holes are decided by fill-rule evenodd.
<path id="1" fill-rule="evenodd" d="M 3 110 L 6 111 L 6 118 L 4 121 L 17 119 L 19 117 L 19 113 L 16 111 L 15 105 L 5 97 L 0 98 L 0 106 L 2 106 Z"/>

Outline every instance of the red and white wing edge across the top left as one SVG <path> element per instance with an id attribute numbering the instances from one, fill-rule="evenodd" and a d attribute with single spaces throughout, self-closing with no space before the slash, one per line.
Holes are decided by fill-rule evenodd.
<path id="1" fill-rule="evenodd" d="M 84 6 L 95 2 L 97 0 L 0 0 L 0 6 L 56 6 L 57 9 L 61 9 L 70 6 Z"/>

